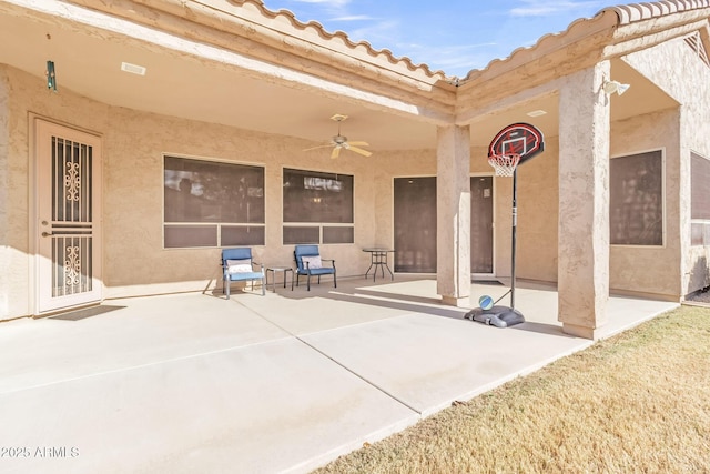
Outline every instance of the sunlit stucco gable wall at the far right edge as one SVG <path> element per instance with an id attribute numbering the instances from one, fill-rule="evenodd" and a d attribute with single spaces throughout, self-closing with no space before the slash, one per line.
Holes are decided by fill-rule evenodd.
<path id="1" fill-rule="evenodd" d="M 680 262 L 674 296 L 684 296 L 702 289 L 710 282 L 708 262 L 709 246 L 691 246 L 691 173 L 690 153 L 710 158 L 710 68 L 682 40 L 677 39 L 661 46 L 640 51 L 626 61 L 676 99 L 681 107 L 677 112 L 677 161 L 667 161 L 667 205 L 677 208 L 677 228 L 667 229 L 669 240 L 677 241 L 672 249 L 674 262 Z M 669 214 L 669 222 L 671 215 Z M 673 234 L 674 233 L 674 234 Z M 678 268 L 678 263 L 673 264 Z"/>

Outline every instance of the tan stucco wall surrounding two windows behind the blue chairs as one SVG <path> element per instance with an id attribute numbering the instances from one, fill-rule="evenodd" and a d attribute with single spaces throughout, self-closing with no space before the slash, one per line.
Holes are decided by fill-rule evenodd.
<path id="1" fill-rule="evenodd" d="M 105 152 L 105 283 L 108 296 L 221 291 L 220 249 L 163 249 L 163 154 L 239 162 L 265 168 L 266 244 L 253 246 L 265 265 L 293 264 L 282 244 L 283 168 L 355 175 L 355 243 L 321 245 L 339 276 L 362 274 L 363 246 L 376 235 L 378 195 L 372 159 L 329 150 L 305 153 L 301 140 L 112 108 Z M 150 290 L 146 290 L 150 286 Z"/>

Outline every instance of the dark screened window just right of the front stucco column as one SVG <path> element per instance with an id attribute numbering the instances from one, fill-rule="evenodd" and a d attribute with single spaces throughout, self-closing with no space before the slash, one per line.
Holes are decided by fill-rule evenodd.
<path id="1" fill-rule="evenodd" d="M 609 180 L 610 243 L 662 245 L 662 151 L 613 158 Z"/>

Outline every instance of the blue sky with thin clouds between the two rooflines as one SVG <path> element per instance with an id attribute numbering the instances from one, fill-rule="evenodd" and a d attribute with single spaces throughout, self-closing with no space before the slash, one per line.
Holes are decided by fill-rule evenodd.
<path id="1" fill-rule="evenodd" d="M 303 22 L 316 20 L 328 32 L 344 31 L 376 50 L 388 49 L 449 75 L 465 77 L 546 33 L 567 29 L 609 0 L 264 0 Z"/>

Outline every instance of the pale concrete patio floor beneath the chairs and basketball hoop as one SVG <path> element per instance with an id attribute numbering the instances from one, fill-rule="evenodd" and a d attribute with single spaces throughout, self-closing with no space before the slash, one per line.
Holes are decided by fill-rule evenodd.
<path id="1" fill-rule="evenodd" d="M 507 290 L 475 283 L 471 307 Z M 604 336 L 676 306 L 613 296 Z M 2 323 L 0 472 L 308 472 L 592 344 L 561 332 L 554 288 L 518 282 L 516 307 L 487 326 L 397 275 Z"/>

